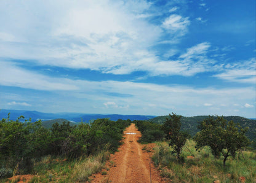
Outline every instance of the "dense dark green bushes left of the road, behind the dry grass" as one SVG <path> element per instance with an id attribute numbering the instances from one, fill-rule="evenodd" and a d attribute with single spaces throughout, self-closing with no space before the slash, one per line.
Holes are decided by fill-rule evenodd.
<path id="1" fill-rule="evenodd" d="M 67 157 L 95 155 L 102 150 L 114 152 L 120 145 L 124 128 L 130 120 L 97 119 L 94 122 L 72 125 L 64 120 L 48 129 L 42 122 L 20 122 L 7 119 L 0 121 L 0 176 L 10 172 L 31 173 L 33 161 L 46 155 Z M 11 170 L 11 171 L 10 171 Z"/>

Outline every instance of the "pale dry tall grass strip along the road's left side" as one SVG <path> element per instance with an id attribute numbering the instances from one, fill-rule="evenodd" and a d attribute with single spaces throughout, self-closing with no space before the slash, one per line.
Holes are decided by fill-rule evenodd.
<path id="1" fill-rule="evenodd" d="M 36 175 L 30 182 L 86 182 L 89 177 L 104 168 L 110 153 L 102 151 L 90 157 L 81 157 L 79 160 L 56 159 L 47 156 L 41 162 L 35 163 L 33 174 Z"/>

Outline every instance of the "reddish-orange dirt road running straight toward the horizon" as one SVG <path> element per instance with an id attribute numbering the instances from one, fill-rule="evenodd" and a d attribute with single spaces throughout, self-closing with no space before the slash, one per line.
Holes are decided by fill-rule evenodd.
<path id="1" fill-rule="evenodd" d="M 150 155 L 148 152 L 152 149 L 151 145 L 141 145 L 137 142 L 141 134 L 132 123 L 130 127 L 124 131 L 124 144 L 119 147 L 118 152 L 111 155 L 110 161 L 107 163 L 109 168 L 107 175 L 102 173 L 94 175 L 92 182 L 150 182 Z M 154 168 L 151 162 L 151 181 L 164 182 L 159 176 L 159 172 Z"/>

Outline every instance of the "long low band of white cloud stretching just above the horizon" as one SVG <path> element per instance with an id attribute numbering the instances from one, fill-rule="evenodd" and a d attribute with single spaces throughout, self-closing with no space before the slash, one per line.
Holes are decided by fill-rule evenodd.
<path id="1" fill-rule="evenodd" d="M 18 66 L 13 66 L 12 64 L 4 63 L 4 66 L 8 66 L 5 68 L 9 68 L 9 71 L 12 71 L 12 74 L 7 76 L 15 75 L 15 77 L 11 79 L 3 77 L 8 73 L 4 71 L 7 69 L 1 69 L 0 73 L 4 72 L 0 80 L 1 85 L 30 88 L 35 90 L 34 93 L 36 93 L 36 90 L 53 91 L 56 93 L 56 97 L 51 99 L 50 104 L 46 104 L 44 99 L 36 99 L 36 103 L 43 104 L 46 107 L 44 110 L 49 110 L 46 112 L 62 109 L 65 111 L 76 110 L 76 112 L 87 111 L 95 113 L 100 109 L 102 114 L 114 112 L 116 114 L 163 115 L 177 112 L 183 115 L 200 115 L 198 111 L 201 114 L 209 114 L 209 111 L 207 111 L 207 107 L 196 107 L 198 104 L 210 107 L 210 104 L 224 103 L 230 106 L 228 107 L 229 109 L 236 109 L 237 106 L 233 106 L 234 98 L 236 98 L 236 102 L 239 104 L 249 103 L 249 101 L 254 100 L 255 95 L 253 87 L 217 89 L 114 80 L 74 80 L 35 74 L 32 71 L 18 68 Z M 14 68 L 10 68 L 10 66 Z M 14 74 L 15 72 L 17 72 L 17 75 Z M 112 94 L 109 95 L 108 93 Z M 23 99 L 31 103 L 34 101 L 34 98 L 31 97 L 29 95 L 23 96 Z M 4 96 L 1 95 L 1 101 L 3 101 L 3 98 Z M 75 100 L 72 104 L 70 104 L 71 99 Z M 4 101 L 6 101 L 5 98 Z M 12 101 L 7 101 L 7 103 Z M 36 103 L 31 103 L 33 110 L 36 110 L 34 108 L 34 106 L 37 106 Z M 85 103 L 86 105 L 84 105 Z M 222 112 L 222 114 L 226 114 L 225 110 Z M 210 113 L 220 114 L 220 111 L 216 108 L 211 109 Z M 235 115 L 235 113 L 232 114 Z"/>

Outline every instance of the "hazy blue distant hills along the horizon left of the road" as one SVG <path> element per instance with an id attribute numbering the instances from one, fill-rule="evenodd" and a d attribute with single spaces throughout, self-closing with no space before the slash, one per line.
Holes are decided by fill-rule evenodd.
<path id="1" fill-rule="evenodd" d="M 38 111 L 22 111 L 22 110 L 0 110 L 0 120 L 7 118 L 10 112 L 10 120 L 16 120 L 20 115 L 23 115 L 26 120 L 31 117 L 32 122 L 41 119 L 42 121 L 52 120 L 52 119 L 66 119 L 72 122 L 90 122 L 90 120 L 109 118 L 110 120 L 116 121 L 118 119 L 122 120 L 148 120 L 155 116 L 152 115 L 119 115 L 119 114 L 82 114 L 82 113 L 44 113 Z"/>

